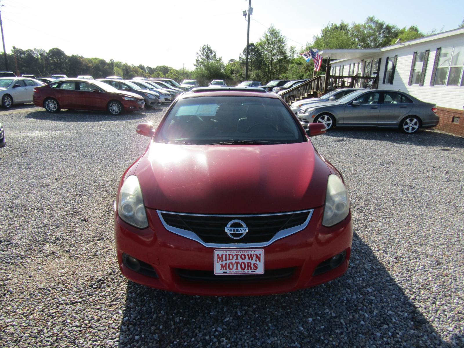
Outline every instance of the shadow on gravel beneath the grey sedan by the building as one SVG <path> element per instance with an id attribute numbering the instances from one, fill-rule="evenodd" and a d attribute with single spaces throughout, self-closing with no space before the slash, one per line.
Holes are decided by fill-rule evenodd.
<path id="1" fill-rule="evenodd" d="M 327 132 L 327 135 L 348 139 L 379 140 L 419 146 L 464 148 L 463 137 L 438 132 L 433 129 L 419 129 L 415 134 L 406 134 L 396 129 L 385 128 L 334 128 Z"/>

